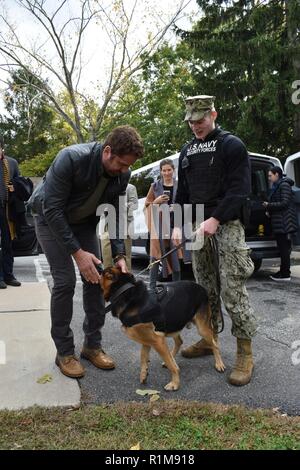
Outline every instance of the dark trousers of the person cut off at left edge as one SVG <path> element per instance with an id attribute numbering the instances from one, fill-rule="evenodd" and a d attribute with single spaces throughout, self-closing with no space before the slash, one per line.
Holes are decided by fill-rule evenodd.
<path id="1" fill-rule="evenodd" d="M 9 232 L 9 225 L 6 217 L 6 206 L 0 201 L 0 236 L 2 257 L 0 257 L 0 280 L 9 280 L 13 277 L 14 257 Z"/>

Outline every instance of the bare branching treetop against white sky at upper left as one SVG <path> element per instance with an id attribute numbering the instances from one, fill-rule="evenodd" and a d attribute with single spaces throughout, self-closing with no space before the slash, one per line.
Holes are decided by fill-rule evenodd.
<path id="1" fill-rule="evenodd" d="M 12 0 L 3 0 L 8 1 L 10 3 Z M 104 7 L 102 0 L 80 0 L 72 4 L 74 11 L 70 12 L 68 0 L 57 1 L 54 11 L 51 11 L 51 2 L 48 0 L 14 0 L 39 25 L 42 34 L 41 37 L 33 34 L 34 46 L 24 40 L 5 15 L 0 15 L 0 55 L 3 58 L 0 69 L 12 73 L 14 69 L 20 68 L 37 77 L 37 84 L 31 86 L 37 94 L 43 94 L 50 106 L 74 130 L 78 142 L 82 142 L 87 137 L 97 137 L 111 100 L 142 69 L 145 60 L 156 51 L 191 0 L 178 0 L 167 21 L 159 17 L 159 25 L 155 27 L 150 21 L 154 33 L 151 31 L 151 37 L 142 43 L 136 37 L 134 24 L 139 20 L 138 7 L 144 11 L 145 3 L 149 5 L 147 2 L 134 0 L 128 7 L 126 0 L 112 0 Z M 152 15 L 152 20 L 155 18 L 152 6 L 149 15 Z M 99 33 L 106 35 L 111 48 L 109 73 L 106 85 L 102 84 L 104 96 L 101 105 L 90 98 L 93 91 L 89 92 L 88 97 L 87 93 L 80 90 L 84 69 L 83 41 L 93 20 L 98 21 Z M 3 79 L 1 82 L 7 83 Z M 68 104 L 62 103 L 59 98 L 61 90 L 68 97 Z M 89 111 L 91 104 L 92 111 Z"/>

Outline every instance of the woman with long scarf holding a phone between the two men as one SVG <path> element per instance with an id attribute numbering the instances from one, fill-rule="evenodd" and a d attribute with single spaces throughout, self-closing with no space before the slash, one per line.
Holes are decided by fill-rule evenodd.
<path id="1" fill-rule="evenodd" d="M 153 262 L 174 246 L 171 240 L 173 229 L 172 204 L 175 201 L 177 181 L 175 180 L 175 167 L 173 161 L 164 159 L 160 162 L 160 179 L 152 183 L 145 201 L 145 215 L 150 233 L 150 261 Z M 162 217 L 164 211 L 170 212 L 170 223 L 165 223 Z M 155 225 L 155 212 L 158 213 L 159 225 Z M 168 225 L 168 226 L 167 226 Z M 180 249 L 173 252 L 162 261 L 163 277 L 172 274 L 173 281 L 180 281 L 180 259 L 189 261 L 189 254 L 186 250 Z M 155 264 L 150 270 L 150 291 L 155 292 L 156 281 L 158 278 L 159 264 Z"/>

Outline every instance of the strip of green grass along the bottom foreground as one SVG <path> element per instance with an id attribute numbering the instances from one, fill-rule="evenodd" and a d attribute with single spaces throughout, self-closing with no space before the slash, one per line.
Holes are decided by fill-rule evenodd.
<path id="1" fill-rule="evenodd" d="M 184 401 L 0 412 L 0 449 L 125 450 L 137 443 L 151 450 L 300 450 L 300 417 Z"/>

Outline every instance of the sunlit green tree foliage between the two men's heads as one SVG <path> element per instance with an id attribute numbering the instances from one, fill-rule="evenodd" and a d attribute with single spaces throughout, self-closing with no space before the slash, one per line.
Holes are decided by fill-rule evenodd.
<path id="1" fill-rule="evenodd" d="M 177 152 L 190 138 L 183 122 L 184 97 L 195 86 L 189 61 L 186 45 L 164 44 L 108 109 L 99 138 L 116 125 L 136 127 L 145 144 L 145 156 L 136 168 Z"/>

